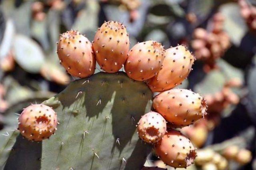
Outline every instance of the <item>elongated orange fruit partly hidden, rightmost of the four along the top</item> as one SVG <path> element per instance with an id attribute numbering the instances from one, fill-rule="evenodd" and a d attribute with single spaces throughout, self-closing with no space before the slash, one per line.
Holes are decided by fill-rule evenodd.
<path id="1" fill-rule="evenodd" d="M 192 69 L 194 56 L 184 45 L 166 50 L 163 67 L 147 84 L 153 92 L 172 89 L 186 79 Z"/>

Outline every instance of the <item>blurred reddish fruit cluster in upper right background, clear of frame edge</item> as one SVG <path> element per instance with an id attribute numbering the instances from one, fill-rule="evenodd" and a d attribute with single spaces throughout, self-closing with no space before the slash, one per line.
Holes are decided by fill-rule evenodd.
<path id="1" fill-rule="evenodd" d="M 209 30 L 196 28 L 193 33 L 191 45 L 197 59 L 204 61 L 204 70 L 216 68 L 216 60 L 225 53 L 230 46 L 230 38 L 223 30 L 224 16 L 214 14 L 209 23 Z"/>

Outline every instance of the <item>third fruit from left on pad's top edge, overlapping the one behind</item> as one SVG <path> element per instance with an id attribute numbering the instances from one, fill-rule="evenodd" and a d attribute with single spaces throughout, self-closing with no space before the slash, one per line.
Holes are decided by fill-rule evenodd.
<path id="1" fill-rule="evenodd" d="M 150 79 L 162 67 L 164 61 L 164 48 L 155 41 L 137 43 L 128 53 L 124 65 L 127 75 L 138 81 Z"/>

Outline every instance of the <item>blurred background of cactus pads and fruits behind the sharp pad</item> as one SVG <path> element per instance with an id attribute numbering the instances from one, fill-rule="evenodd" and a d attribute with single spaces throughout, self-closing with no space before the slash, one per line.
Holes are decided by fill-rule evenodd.
<path id="1" fill-rule="evenodd" d="M 130 47 L 152 39 L 194 52 L 179 87 L 204 95 L 209 109 L 181 129 L 198 148 L 187 169 L 256 169 L 256 0 L 0 0 L 0 148 L 17 113 L 75 79 L 59 64 L 59 34 L 92 41 L 105 20 L 124 23 Z M 172 169 L 153 152 L 145 166 Z"/>

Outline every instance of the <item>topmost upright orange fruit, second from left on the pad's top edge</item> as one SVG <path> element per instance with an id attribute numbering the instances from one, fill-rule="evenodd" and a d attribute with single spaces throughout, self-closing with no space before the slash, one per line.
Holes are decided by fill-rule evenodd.
<path id="1" fill-rule="evenodd" d="M 101 69 L 117 72 L 124 65 L 130 47 L 125 26 L 116 21 L 105 22 L 98 28 L 92 46 Z"/>

